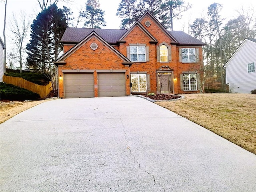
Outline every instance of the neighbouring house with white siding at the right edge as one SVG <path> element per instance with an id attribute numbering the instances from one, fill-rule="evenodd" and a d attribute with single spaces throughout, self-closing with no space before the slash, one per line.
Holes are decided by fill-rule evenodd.
<path id="1" fill-rule="evenodd" d="M 245 39 L 224 65 L 230 92 L 250 93 L 256 89 L 256 39 Z"/>

